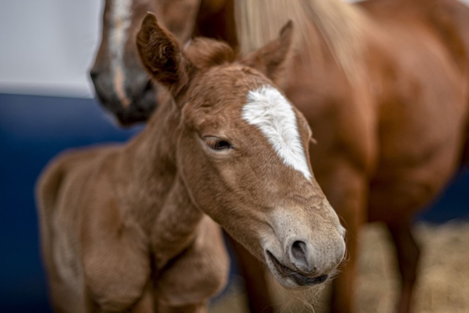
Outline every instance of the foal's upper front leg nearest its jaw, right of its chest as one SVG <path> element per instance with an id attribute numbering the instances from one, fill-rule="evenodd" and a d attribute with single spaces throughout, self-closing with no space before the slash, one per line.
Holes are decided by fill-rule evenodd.
<path id="1" fill-rule="evenodd" d="M 227 283 L 229 258 L 221 229 L 204 216 L 197 237 L 162 270 L 155 288 L 157 312 L 204 313 Z"/>

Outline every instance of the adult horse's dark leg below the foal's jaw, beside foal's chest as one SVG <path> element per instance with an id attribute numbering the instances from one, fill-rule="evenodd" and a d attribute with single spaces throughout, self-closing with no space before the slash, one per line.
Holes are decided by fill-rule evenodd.
<path id="1" fill-rule="evenodd" d="M 273 313 L 272 301 L 265 280 L 264 264 L 240 243 L 227 235 L 234 250 L 246 286 L 249 309 L 252 313 Z"/>

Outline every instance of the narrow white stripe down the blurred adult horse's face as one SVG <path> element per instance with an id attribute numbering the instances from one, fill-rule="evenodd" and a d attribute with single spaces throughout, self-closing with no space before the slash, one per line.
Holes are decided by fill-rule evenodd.
<path id="1" fill-rule="evenodd" d="M 130 104 L 125 93 L 123 77 L 124 47 L 127 31 L 130 27 L 132 0 L 114 0 L 111 3 L 111 28 L 109 30 L 108 48 L 110 53 L 113 84 L 117 96 L 124 106 Z"/>

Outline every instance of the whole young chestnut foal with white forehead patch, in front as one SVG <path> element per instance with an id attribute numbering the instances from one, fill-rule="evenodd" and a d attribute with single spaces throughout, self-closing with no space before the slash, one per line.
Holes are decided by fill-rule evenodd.
<path id="1" fill-rule="evenodd" d="M 228 267 L 212 219 L 282 285 L 325 282 L 345 229 L 310 170 L 308 124 L 274 87 L 291 38 L 289 23 L 234 61 L 208 39 L 184 52 L 145 17 L 138 53 L 166 101 L 127 145 L 66 153 L 38 185 L 57 312 L 205 312 Z"/>

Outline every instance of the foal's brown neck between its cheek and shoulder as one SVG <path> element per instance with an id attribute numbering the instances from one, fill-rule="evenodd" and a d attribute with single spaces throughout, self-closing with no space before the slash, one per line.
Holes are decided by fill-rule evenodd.
<path id="1" fill-rule="evenodd" d="M 123 201 L 148 236 L 157 268 L 192 242 L 203 217 L 178 173 L 179 122 L 180 113 L 172 100 L 165 101 L 123 151 L 122 165 L 132 177 L 123 188 Z"/>

